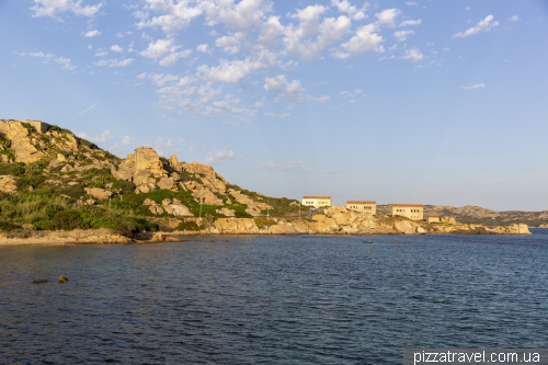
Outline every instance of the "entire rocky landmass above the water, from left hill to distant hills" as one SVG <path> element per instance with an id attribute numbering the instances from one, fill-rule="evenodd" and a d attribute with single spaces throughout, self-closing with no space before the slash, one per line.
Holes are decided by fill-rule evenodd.
<path id="1" fill-rule="evenodd" d="M 176 235 L 527 235 L 548 212 L 424 206 L 429 224 L 266 197 L 230 184 L 206 164 L 138 147 L 121 159 L 68 129 L 0 119 L 0 243 L 137 242 Z M 504 226 L 504 227 L 503 227 Z M 492 227 L 492 228 L 489 228 Z"/>

